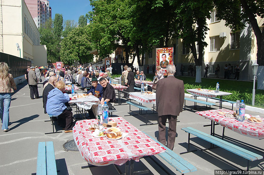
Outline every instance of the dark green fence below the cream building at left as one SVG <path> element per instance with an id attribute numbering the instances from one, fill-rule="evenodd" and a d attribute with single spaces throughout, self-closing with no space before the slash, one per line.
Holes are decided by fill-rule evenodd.
<path id="1" fill-rule="evenodd" d="M 0 62 L 6 62 L 8 64 L 10 68 L 9 73 L 14 78 L 25 75 L 27 66 L 31 66 L 31 61 L 2 52 L 0 52 Z"/>

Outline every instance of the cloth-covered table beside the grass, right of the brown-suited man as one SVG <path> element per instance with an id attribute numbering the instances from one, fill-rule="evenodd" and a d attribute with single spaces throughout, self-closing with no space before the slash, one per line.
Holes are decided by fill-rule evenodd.
<path id="1" fill-rule="evenodd" d="M 199 97 L 205 97 L 205 98 L 215 98 L 217 96 L 219 96 L 220 98 L 220 103 L 219 103 L 219 109 L 222 109 L 222 99 L 223 96 L 226 95 L 231 95 L 232 93 L 229 92 L 223 92 L 223 91 L 219 91 L 216 92 L 215 90 L 213 91 L 209 91 L 208 89 L 201 89 L 201 90 L 197 90 L 197 89 L 187 89 L 187 92 L 189 92 L 191 95 L 194 95 L 194 98 L 196 99 L 197 96 Z"/>

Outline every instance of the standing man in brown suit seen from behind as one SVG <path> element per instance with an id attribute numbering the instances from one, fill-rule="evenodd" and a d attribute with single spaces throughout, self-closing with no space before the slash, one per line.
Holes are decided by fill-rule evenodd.
<path id="1" fill-rule="evenodd" d="M 167 147 L 173 150 L 176 137 L 177 116 L 184 103 L 184 84 L 174 77 L 175 66 L 168 65 L 168 77 L 160 79 L 156 87 L 156 105 L 159 116 L 159 142 L 166 144 L 166 121 L 169 119 Z"/>

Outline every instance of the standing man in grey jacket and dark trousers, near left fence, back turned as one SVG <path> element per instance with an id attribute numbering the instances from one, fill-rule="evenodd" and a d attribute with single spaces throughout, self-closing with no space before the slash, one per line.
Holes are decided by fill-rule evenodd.
<path id="1" fill-rule="evenodd" d="M 38 78 L 36 76 L 35 67 L 32 66 L 28 72 L 28 85 L 30 89 L 30 97 L 34 99 L 34 95 L 37 98 L 38 96 Z"/>

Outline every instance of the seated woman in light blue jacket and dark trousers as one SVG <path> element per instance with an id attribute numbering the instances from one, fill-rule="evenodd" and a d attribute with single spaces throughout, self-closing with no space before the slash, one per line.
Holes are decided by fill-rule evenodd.
<path id="1" fill-rule="evenodd" d="M 56 87 L 48 93 L 46 111 L 49 115 L 58 116 L 65 119 L 65 133 L 73 132 L 73 113 L 67 110 L 65 103 L 70 101 L 70 97 L 65 91 L 65 83 L 58 81 Z M 73 97 L 76 99 L 76 97 Z"/>

